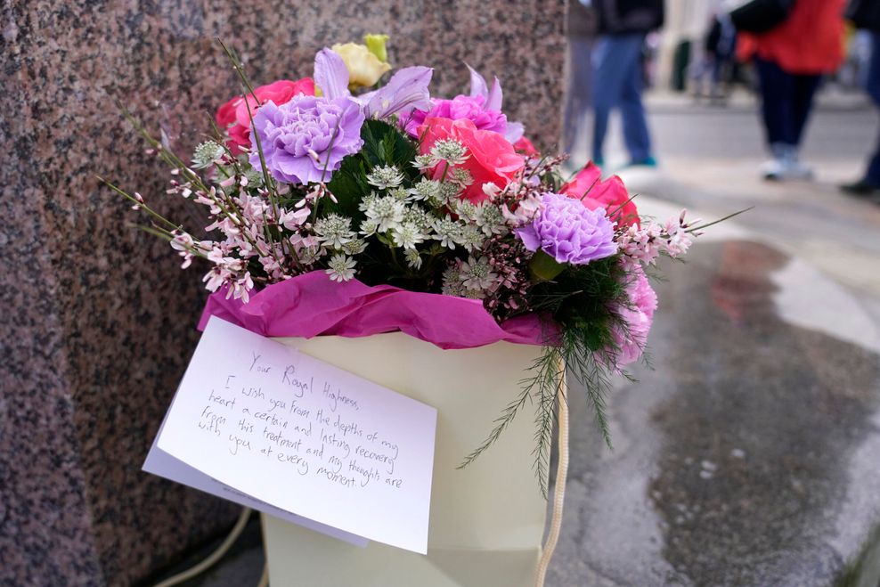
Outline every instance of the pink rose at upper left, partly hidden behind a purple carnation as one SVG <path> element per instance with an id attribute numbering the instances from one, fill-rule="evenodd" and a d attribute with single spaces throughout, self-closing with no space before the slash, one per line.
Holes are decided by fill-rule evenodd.
<path id="1" fill-rule="evenodd" d="M 293 82 L 289 79 L 279 79 L 268 86 L 259 86 L 254 90 L 254 96 L 235 96 L 229 102 L 217 109 L 216 121 L 220 128 L 226 128 L 229 132 L 229 149 L 233 155 L 239 154 L 239 147 L 250 147 L 250 118 L 257 112 L 257 108 L 270 100 L 276 106 L 290 102 L 297 94 L 314 96 L 314 81 L 311 77 L 303 77 Z M 257 104 L 257 101 L 259 103 Z M 248 108 L 250 107 L 250 116 Z"/>

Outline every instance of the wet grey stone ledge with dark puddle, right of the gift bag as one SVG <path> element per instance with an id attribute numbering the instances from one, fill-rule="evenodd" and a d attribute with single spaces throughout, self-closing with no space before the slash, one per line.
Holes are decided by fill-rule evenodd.
<path id="1" fill-rule="evenodd" d="M 835 584 L 880 526 L 876 325 L 762 242 L 704 242 L 664 271 L 656 371 L 610 399 L 614 452 L 574 401 L 549 584 Z"/>

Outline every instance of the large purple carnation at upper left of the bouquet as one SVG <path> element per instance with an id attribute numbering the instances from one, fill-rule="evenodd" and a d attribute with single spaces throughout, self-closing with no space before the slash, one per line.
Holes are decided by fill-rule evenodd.
<path id="1" fill-rule="evenodd" d="M 361 107 L 346 96 L 299 95 L 276 106 L 266 102 L 254 115 L 265 164 L 272 176 L 286 183 L 330 181 L 346 155 L 361 150 Z M 256 143 L 250 164 L 260 168 Z"/>

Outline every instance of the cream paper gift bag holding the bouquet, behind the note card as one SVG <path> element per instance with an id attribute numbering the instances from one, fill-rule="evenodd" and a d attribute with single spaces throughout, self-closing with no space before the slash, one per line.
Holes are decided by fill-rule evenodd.
<path id="1" fill-rule="evenodd" d="M 456 469 L 515 398 L 540 346 L 442 350 L 402 332 L 276 338 L 437 409 L 428 555 L 365 548 L 263 516 L 272 587 L 519 587 L 534 584 L 547 502 L 532 469 L 534 412 Z"/>

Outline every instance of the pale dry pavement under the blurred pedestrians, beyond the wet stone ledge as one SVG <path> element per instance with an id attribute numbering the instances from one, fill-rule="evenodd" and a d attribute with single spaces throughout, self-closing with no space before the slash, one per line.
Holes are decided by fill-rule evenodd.
<path id="1" fill-rule="evenodd" d="M 765 154 L 754 111 L 695 106 L 680 96 L 679 102 L 657 100 L 665 106 L 651 111 L 649 124 L 660 167 L 621 171 L 632 193 L 677 202 L 706 217 L 754 206 L 737 224 L 808 259 L 869 305 L 870 298 L 880 298 L 880 271 L 871 271 L 880 258 L 880 198 L 860 200 L 837 189 L 860 176 L 874 147 L 880 129 L 874 110 L 816 110 L 803 146 L 815 180 L 769 183 L 757 172 Z M 608 135 L 612 170 L 625 162 L 616 123 Z M 580 151 L 572 160 L 585 159 Z"/>

